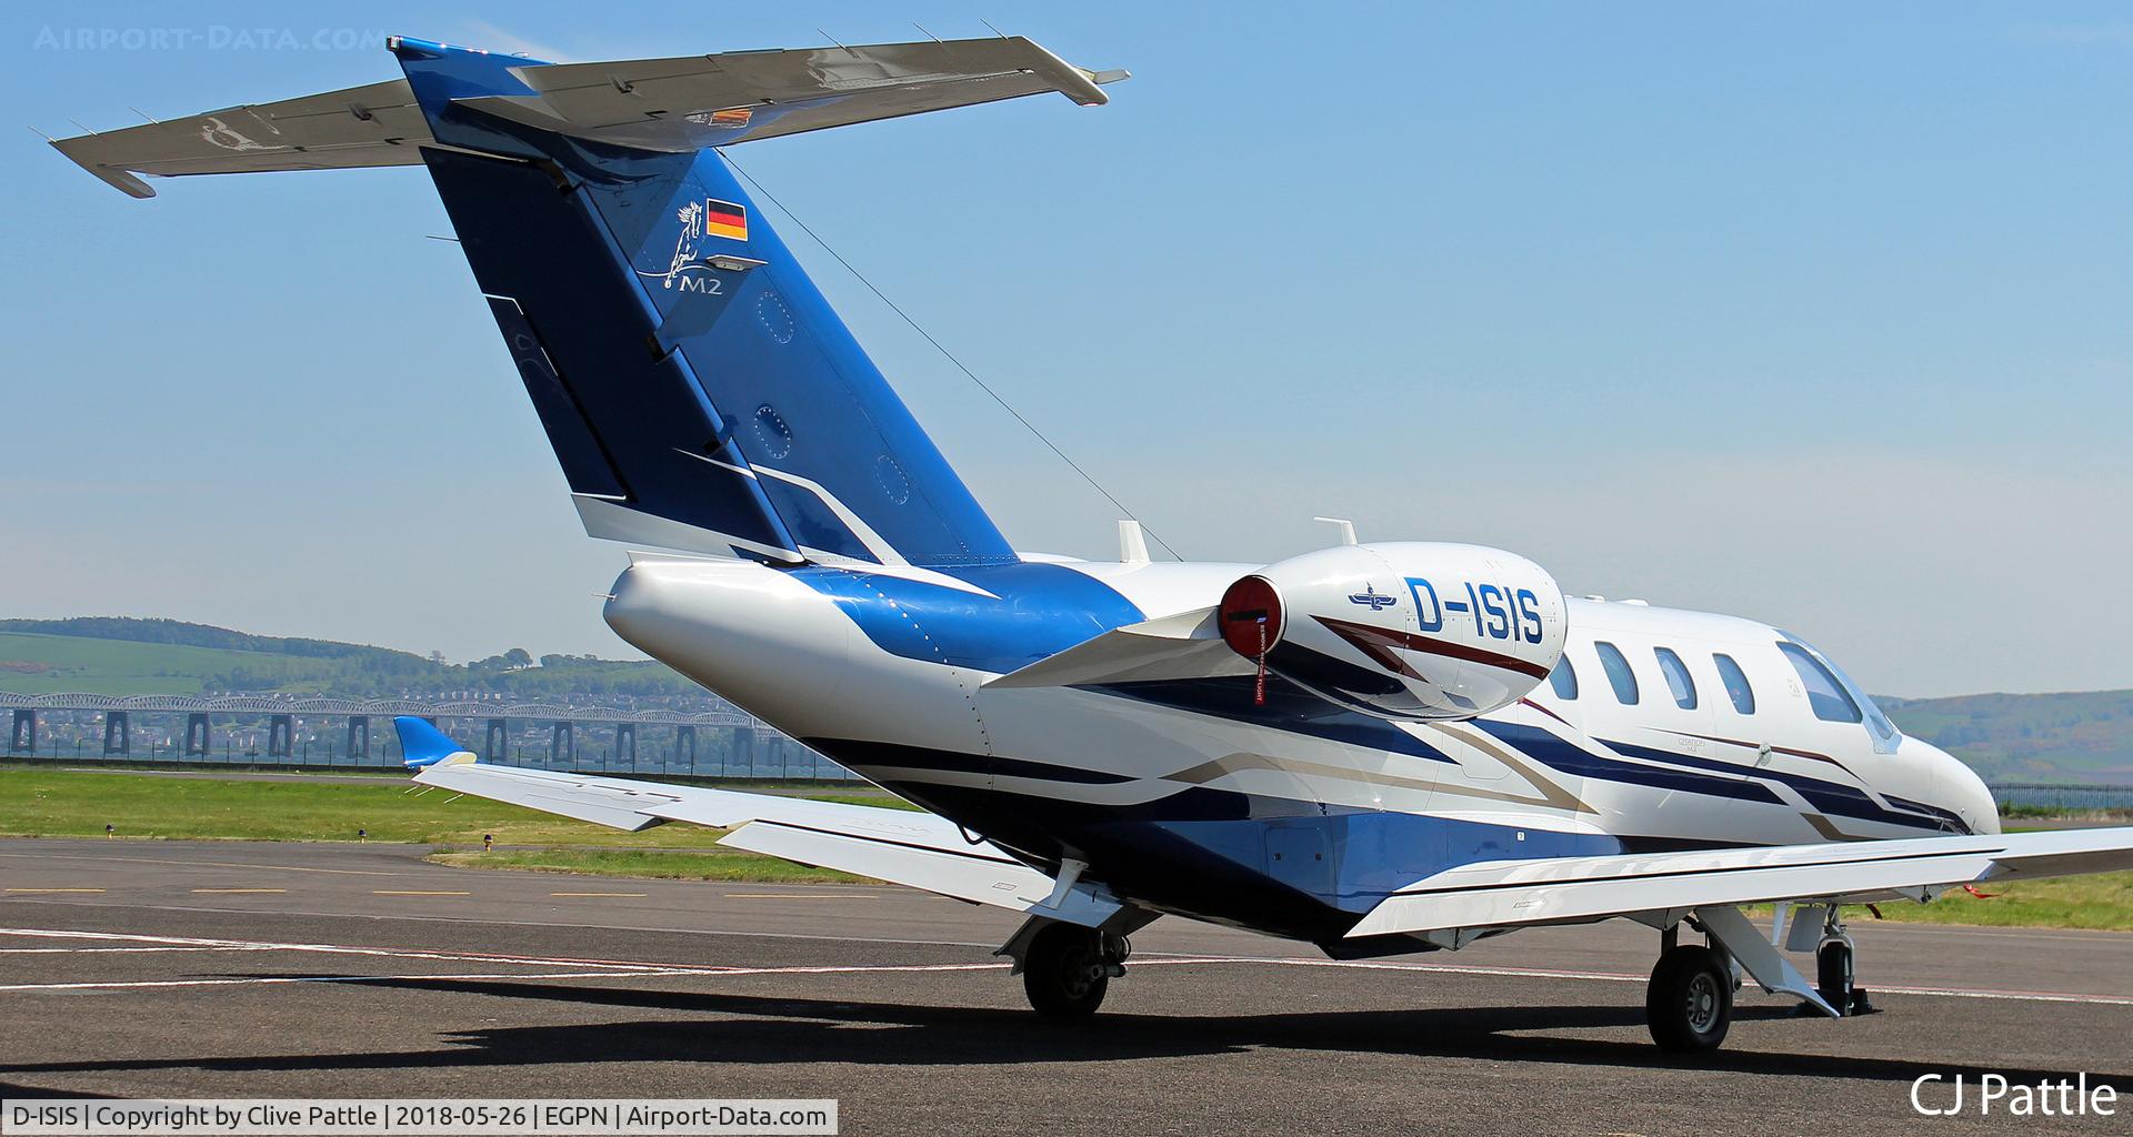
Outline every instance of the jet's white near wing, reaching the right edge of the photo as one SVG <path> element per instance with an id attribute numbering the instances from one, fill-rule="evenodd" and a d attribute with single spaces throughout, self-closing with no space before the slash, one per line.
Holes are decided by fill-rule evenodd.
<path id="1" fill-rule="evenodd" d="M 1386 896 L 1348 934 L 1574 924 L 1777 900 L 1928 900 L 1988 879 L 2124 868 L 2133 868 L 2133 828 L 1487 862 Z"/>

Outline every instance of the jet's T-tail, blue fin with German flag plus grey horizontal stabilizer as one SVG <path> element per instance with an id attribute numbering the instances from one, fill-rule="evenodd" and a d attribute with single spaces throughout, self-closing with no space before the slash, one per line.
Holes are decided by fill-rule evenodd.
<path id="1" fill-rule="evenodd" d="M 422 164 L 595 538 L 768 563 L 1015 561 L 719 147 L 1060 92 L 1020 38 L 544 64 L 395 36 L 405 79 L 64 139 L 137 175 Z"/>

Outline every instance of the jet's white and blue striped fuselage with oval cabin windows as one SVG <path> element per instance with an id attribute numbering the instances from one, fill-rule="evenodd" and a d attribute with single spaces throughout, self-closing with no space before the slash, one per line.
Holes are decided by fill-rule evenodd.
<path id="1" fill-rule="evenodd" d="M 1043 572 L 1156 619 L 1207 608 L 1252 565 Z M 1817 715 L 1779 646 L 1792 640 L 1755 621 L 1572 599 L 1574 698 L 1540 683 L 1470 721 L 1393 721 L 1318 700 L 1256 706 L 1248 685 L 985 687 L 1013 666 L 968 642 L 1047 619 L 1041 599 L 992 589 L 909 567 L 640 555 L 606 616 L 766 723 L 1032 864 L 1075 858 L 1148 907 L 1280 934 L 1322 939 L 1337 913 L 1465 862 L 1996 832 L 1967 766 L 1877 734 L 1879 710 L 1834 668 L 1862 721 Z M 1634 702 L 1602 644 L 1634 676 Z M 1670 683 L 1662 648 L 1691 691 L 1679 672 Z M 1719 657 L 1738 668 L 1732 683 Z M 1258 919 L 1261 879 L 1308 900 Z"/>

